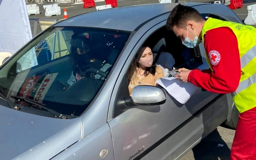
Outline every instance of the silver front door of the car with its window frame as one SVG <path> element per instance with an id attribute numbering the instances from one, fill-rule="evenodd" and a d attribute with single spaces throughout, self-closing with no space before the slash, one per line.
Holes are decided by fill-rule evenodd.
<path id="1" fill-rule="evenodd" d="M 108 123 L 116 160 L 176 159 L 208 134 L 213 93 L 200 91 L 181 104 L 164 90 L 166 102 L 162 105 L 129 106 L 125 103 L 124 99 L 129 96 L 126 73 L 130 62 L 145 39 L 165 24 L 163 21 L 155 25 L 140 38 L 113 90 Z M 200 67 L 208 68 L 207 65 L 203 63 Z"/>

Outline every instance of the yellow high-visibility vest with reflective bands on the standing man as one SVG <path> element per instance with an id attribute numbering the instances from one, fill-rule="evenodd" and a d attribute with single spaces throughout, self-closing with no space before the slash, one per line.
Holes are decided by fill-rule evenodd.
<path id="1" fill-rule="evenodd" d="M 241 79 L 238 88 L 235 92 L 231 93 L 231 95 L 233 96 L 233 101 L 238 111 L 243 113 L 244 111 L 256 107 L 256 28 L 240 23 L 209 18 L 206 20 L 202 29 L 203 43 L 206 32 L 219 27 L 229 27 L 237 37 L 241 62 Z M 212 70 L 210 60 L 208 56 L 206 57 Z"/>

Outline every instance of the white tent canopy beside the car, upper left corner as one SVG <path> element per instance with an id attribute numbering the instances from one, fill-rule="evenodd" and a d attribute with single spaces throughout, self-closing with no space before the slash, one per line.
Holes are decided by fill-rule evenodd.
<path id="1" fill-rule="evenodd" d="M 0 0 L 0 56 L 14 54 L 32 38 L 25 0 Z"/>

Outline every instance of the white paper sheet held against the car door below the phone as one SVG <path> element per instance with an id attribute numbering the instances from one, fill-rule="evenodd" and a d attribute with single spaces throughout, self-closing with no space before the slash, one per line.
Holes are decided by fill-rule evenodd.
<path id="1" fill-rule="evenodd" d="M 192 83 L 184 83 L 176 77 L 160 78 L 157 83 L 181 104 L 185 104 L 193 94 L 201 90 Z"/>

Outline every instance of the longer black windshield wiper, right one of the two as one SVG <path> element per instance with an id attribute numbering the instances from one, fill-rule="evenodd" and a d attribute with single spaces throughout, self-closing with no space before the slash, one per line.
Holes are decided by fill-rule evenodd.
<path id="1" fill-rule="evenodd" d="M 49 108 L 46 108 L 45 104 L 42 104 L 42 103 L 39 103 L 39 102 L 35 102 L 34 100 L 32 99 L 28 99 L 28 98 L 25 98 L 25 97 L 21 97 L 21 96 L 11 96 L 11 98 L 14 98 L 14 99 L 18 99 L 18 100 L 24 100 L 25 102 L 27 103 L 30 103 L 30 104 L 34 104 L 36 106 L 39 106 L 41 108 L 44 108 L 46 111 L 48 111 L 49 113 L 55 115 L 56 118 L 61 118 L 61 119 L 67 119 L 67 117 L 65 117 L 63 114 L 57 112 L 57 111 L 54 111 L 52 109 L 49 109 Z"/>

